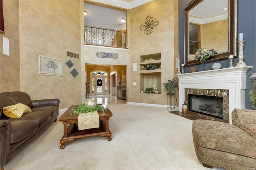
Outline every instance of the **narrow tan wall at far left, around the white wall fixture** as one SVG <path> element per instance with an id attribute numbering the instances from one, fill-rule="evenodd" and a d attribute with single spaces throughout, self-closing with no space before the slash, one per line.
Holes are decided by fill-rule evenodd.
<path id="1" fill-rule="evenodd" d="M 0 33 L 0 92 L 20 91 L 19 1 L 4 0 L 5 34 Z M 3 36 L 10 41 L 10 56 L 3 54 Z"/>

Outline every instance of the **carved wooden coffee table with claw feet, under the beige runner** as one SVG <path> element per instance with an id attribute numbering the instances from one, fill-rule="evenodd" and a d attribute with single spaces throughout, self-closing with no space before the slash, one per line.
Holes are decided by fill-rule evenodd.
<path id="1" fill-rule="evenodd" d="M 112 117 L 111 111 L 106 105 L 102 105 L 103 111 L 98 111 L 100 119 L 99 128 L 91 128 L 86 130 L 78 130 L 78 114 L 70 115 L 74 107 L 79 105 L 71 105 L 63 115 L 58 119 L 64 125 L 64 135 L 60 139 L 60 149 L 64 149 L 66 143 L 71 142 L 76 138 L 85 138 L 89 136 L 103 136 L 108 137 L 108 141 L 111 141 L 111 132 L 108 128 L 108 120 Z M 68 125 L 69 124 L 69 125 Z"/>

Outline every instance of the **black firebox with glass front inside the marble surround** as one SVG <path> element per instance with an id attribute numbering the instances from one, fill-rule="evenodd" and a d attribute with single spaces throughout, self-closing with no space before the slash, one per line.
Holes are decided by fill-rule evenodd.
<path id="1" fill-rule="evenodd" d="M 188 110 L 223 119 L 223 97 L 189 94 Z"/>

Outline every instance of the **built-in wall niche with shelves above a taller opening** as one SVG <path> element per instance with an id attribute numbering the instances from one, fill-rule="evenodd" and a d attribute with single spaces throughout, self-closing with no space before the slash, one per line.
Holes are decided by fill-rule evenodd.
<path id="1" fill-rule="evenodd" d="M 156 65 L 157 69 L 146 69 L 151 64 Z M 141 68 L 142 65 L 144 69 Z M 140 55 L 140 91 L 153 87 L 161 92 L 161 76 L 161 53 Z"/>

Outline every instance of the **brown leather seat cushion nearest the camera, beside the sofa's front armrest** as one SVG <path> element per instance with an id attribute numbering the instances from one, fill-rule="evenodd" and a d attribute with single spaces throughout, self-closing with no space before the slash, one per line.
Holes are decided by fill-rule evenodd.
<path id="1" fill-rule="evenodd" d="M 17 120 L 17 119 L 15 119 Z M 20 140 L 30 136 L 36 132 L 38 128 L 38 123 L 36 121 L 27 120 L 27 121 L 13 121 L 12 125 L 12 134 L 11 134 L 11 144 L 19 142 Z"/>

